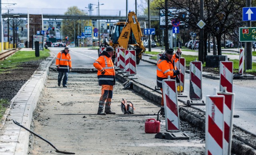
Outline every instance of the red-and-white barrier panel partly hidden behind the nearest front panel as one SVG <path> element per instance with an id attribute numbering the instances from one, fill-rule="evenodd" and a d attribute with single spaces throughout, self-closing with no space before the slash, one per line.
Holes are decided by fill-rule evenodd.
<path id="1" fill-rule="evenodd" d="M 224 104 L 224 154 L 231 154 L 232 143 L 232 129 L 233 129 L 233 111 L 235 94 L 226 91 L 224 87 L 223 92 L 218 92 L 218 95 L 225 96 Z"/>

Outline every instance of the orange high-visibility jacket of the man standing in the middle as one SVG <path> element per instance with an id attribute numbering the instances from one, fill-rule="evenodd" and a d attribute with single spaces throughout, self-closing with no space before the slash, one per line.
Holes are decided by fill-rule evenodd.
<path id="1" fill-rule="evenodd" d="M 98 82 L 99 85 L 115 85 L 116 79 L 115 79 L 115 69 L 114 64 L 112 62 L 111 57 L 107 57 L 103 54 L 93 63 L 93 66 L 98 70 Z M 104 69 L 105 74 L 102 75 L 102 69 Z"/>

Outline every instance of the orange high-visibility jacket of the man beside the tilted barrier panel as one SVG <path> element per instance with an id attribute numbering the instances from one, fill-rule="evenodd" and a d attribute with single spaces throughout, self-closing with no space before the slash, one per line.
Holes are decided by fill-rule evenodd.
<path id="1" fill-rule="evenodd" d="M 177 68 L 175 63 L 179 60 L 178 54 L 174 54 L 171 60 L 168 60 L 167 56 L 163 54 L 160 60 L 157 62 L 156 67 L 156 84 L 162 88 L 162 80 L 167 79 L 170 75 L 171 79 L 176 79 Z M 176 72 L 175 72 L 176 71 Z"/>

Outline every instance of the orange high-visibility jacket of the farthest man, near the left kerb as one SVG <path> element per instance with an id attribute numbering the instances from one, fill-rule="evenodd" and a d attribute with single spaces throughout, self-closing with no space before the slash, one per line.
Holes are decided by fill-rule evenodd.
<path id="1" fill-rule="evenodd" d="M 72 61 L 70 53 L 65 53 L 64 50 L 60 51 L 56 57 L 56 67 L 60 66 L 57 71 L 68 72 L 72 68 Z"/>

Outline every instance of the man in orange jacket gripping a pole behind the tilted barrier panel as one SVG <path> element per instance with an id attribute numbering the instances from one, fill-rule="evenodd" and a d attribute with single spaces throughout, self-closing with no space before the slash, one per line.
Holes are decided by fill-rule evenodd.
<path id="1" fill-rule="evenodd" d="M 179 82 L 178 76 L 181 73 L 181 70 L 177 70 L 175 63 L 180 59 L 179 55 L 181 54 L 181 49 L 178 48 L 176 54 L 174 54 L 173 49 L 168 49 L 160 57 L 160 60 L 157 63 L 156 67 L 156 83 L 162 91 L 162 100 L 161 100 L 161 111 L 160 114 L 164 115 L 164 96 L 163 96 L 163 87 L 162 80 L 167 79 L 170 75 L 171 79 L 177 80 Z"/>

